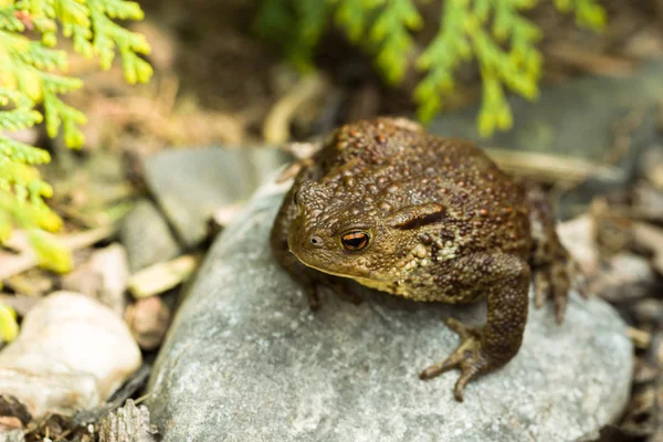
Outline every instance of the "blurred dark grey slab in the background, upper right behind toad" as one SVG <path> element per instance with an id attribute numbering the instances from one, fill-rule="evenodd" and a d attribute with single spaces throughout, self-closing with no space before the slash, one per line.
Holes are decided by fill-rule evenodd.
<path id="1" fill-rule="evenodd" d="M 613 166 L 620 179 L 592 177 L 566 192 L 558 214 L 578 214 L 597 194 L 622 189 L 633 179 L 639 159 L 649 147 L 662 141 L 659 103 L 663 99 L 663 59 L 653 60 L 623 77 L 583 76 L 541 88 L 536 103 L 512 96 L 514 127 L 490 138 L 478 135 L 477 107 L 442 115 L 429 127 L 432 134 L 469 138 L 485 148 L 514 149 L 580 157 L 603 164 L 619 150 Z M 615 131 L 619 137 L 615 137 Z"/>

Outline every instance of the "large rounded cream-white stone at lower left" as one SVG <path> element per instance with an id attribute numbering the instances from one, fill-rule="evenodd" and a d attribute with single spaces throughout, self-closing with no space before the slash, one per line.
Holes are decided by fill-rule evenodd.
<path id="1" fill-rule="evenodd" d="M 15 397 L 34 419 L 72 414 L 104 402 L 140 362 L 128 327 L 110 308 L 55 292 L 0 351 L 0 394 Z"/>

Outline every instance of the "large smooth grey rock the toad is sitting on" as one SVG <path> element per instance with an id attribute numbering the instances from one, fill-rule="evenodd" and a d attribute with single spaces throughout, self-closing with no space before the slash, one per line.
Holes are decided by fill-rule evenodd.
<path id="1" fill-rule="evenodd" d="M 262 188 L 215 241 L 150 379 L 164 441 L 577 441 L 598 435 L 629 397 L 632 346 L 618 314 L 572 295 L 567 320 L 532 309 L 523 348 L 454 401 L 457 372 L 419 371 L 457 345 L 453 307 L 328 294 L 317 313 L 272 259 L 284 189 Z"/>

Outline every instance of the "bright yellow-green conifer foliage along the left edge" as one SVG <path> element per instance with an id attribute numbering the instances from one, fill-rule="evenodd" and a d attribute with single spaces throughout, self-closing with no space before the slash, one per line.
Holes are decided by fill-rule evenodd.
<path id="1" fill-rule="evenodd" d="M 62 129 L 67 146 L 84 143 L 80 126 L 85 115 L 60 97 L 83 82 L 63 75 L 67 54 L 54 49 L 57 35 L 71 39 L 75 52 L 97 56 L 105 70 L 118 52 L 128 83 L 150 78 L 152 69 L 140 57 L 150 50 L 146 39 L 114 19 L 141 20 L 143 11 L 124 0 L 0 0 L 0 243 L 9 240 L 12 228 L 24 229 L 40 264 L 56 272 L 67 272 L 72 262 L 46 233 L 62 225 L 43 200 L 53 189 L 35 168 L 51 158 L 7 133 L 44 122 L 50 137 Z M 0 303 L 0 340 L 12 340 L 17 333 L 15 314 Z"/>

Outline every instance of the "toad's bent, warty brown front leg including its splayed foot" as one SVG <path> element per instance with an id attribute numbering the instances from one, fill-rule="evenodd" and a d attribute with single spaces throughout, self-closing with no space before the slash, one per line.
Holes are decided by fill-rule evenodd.
<path id="1" fill-rule="evenodd" d="M 467 327 L 455 319 L 446 324 L 459 334 L 461 344 L 444 361 L 430 366 L 420 375 L 430 379 L 450 370 L 461 369 L 454 397 L 463 401 L 467 382 L 477 376 L 508 362 L 520 348 L 527 322 L 529 266 L 515 255 L 475 254 L 460 259 L 452 272 L 459 285 L 480 284 L 474 290 L 487 295 L 488 317 L 483 327 Z M 481 283 L 477 282 L 481 275 Z"/>

